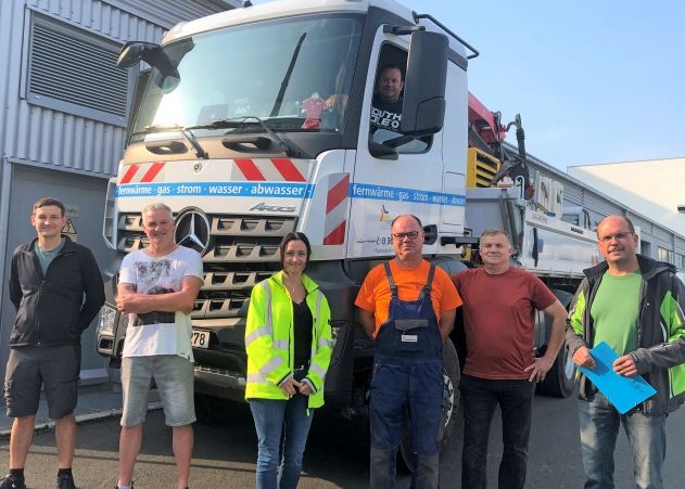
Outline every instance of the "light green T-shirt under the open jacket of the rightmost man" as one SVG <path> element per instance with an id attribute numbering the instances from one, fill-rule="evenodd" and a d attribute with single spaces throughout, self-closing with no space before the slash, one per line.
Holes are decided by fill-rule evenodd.
<path id="1" fill-rule="evenodd" d="M 619 356 L 637 349 L 640 283 L 639 270 L 620 276 L 604 274 L 589 310 L 593 346 L 605 342 Z"/>

